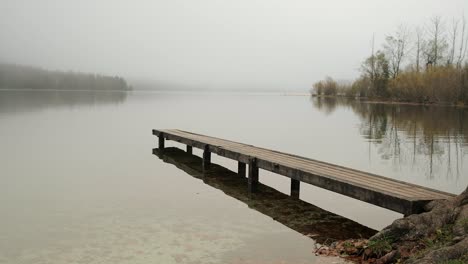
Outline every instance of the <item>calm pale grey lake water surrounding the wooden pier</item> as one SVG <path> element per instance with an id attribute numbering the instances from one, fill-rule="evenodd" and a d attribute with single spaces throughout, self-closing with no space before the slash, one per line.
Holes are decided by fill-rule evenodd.
<path id="1" fill-rule="evenodd" d="M 306 184 L 308 203 L 288 200 L 288 179 L 265 171 L 263 198 L 247 197 L 241 182 L 218 177 L 225 169 L 206 180 L 196 157 L 152 155 L 151 129 L 460 193 L 468 185 L 467 126 L 466 110 L 307 96 L 0 92 L 0 263 L 331 263 L 313 256 L 326 225 L 317 230 L 308 219 L 350 234 L 363 229 L 318 207 L 374 229 L 401 215 Z M 298 209 L 281 211 L 277 199 Z M 311 230 L 315 240 L 303 235 Z"/>

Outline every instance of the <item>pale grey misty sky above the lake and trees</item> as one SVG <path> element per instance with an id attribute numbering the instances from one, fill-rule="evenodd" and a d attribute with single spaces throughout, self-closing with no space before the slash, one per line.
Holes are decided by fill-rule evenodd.
<path id="1" fill-rule="evenodd" d="M 217 88 L 353 79 L 397 26 L 467 0 L 0 0 L 0 60 Z"/>

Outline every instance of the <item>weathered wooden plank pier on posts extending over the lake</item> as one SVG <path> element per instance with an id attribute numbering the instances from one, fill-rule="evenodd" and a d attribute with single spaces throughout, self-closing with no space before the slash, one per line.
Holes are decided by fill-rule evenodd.
<path id="1" fill-rule="evenodd" d="M 299 196 L 300 182 L 330 190 L 392 211 L 410 215 L 420 213 L 426 203 L 449 199 L 455 195 L 422 186 L 393 180 L 305 157 L 282 153 L 225 139 L 186 132 L 178 129 L 153 130 L 159 137 L 159 149 L 165 140 L 203 150 L 203 167 L 211 163 L 211 153 L 238 161 L 238 175 L 245 177 L 248 166 L 248 190 L 255 192 L 259 169 L 291 178 L 291 195 Z"/>

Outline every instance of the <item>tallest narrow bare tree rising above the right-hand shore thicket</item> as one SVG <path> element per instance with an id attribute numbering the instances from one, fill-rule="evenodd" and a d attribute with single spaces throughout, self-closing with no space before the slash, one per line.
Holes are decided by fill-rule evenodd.
<path id="1" fill-rule="evenodd" d="M 428 26 L 428 41 L 424 55 L 426 57 L 426 67 L 433 65 L 437 66 L 443 58 L 444 52 L 447 49 L 447 41 L 444 36 L 444 24 L 439 16 L 431 18 Z"/>

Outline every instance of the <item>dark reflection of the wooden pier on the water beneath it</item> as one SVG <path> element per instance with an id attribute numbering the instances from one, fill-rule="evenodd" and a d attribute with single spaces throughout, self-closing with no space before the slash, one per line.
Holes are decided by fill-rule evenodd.
<path id="1" fill-rule="evenodd" d="M 348 238 L 368 238 L 376 233 L 375 230 L 359 223 L 261 183 L 256 193 L 249 193 L 247 178 L 214 163 L 203 170 L 202 158 L 181 149 L 175 147 L 165 148 L 163 151 L 153 149 L 153 154 L 192 177 L 203 180 L 205 184 L 245 203 L 249 208 L 311 237 L 320 244 Z"/>

